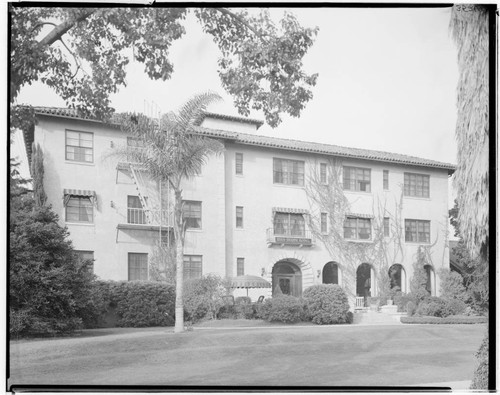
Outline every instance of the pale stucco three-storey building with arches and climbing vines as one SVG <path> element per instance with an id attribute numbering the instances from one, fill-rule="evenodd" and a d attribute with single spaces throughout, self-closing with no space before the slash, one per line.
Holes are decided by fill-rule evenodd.
<path id="1" fill-rule="evenodd" d="M 172 207 L 167 186 L 113 154 L 138 143 L 71 110 L 36 114 L 25 133 L 28 157 L 39 144 L 48 202 L 75 249 L 94 259 L 102 279 L 153 279 L 158 243 L 171 243 Z M 225 149 L 182 188 L 186 277 L 249 274 L 272 283 L 250 290 L 253 298 L 337 283 L 354 303 L 387 284 L 409 291 L 420 262 L 439 294 L 453 165 L 259 136 L 261 124 L 207 113 L 199 127 Z"/>

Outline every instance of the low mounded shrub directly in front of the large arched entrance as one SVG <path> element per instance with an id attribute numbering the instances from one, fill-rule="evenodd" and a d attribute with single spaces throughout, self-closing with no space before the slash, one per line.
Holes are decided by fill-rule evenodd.
<path id="1" fill-rule="evenodd" d="M 300 298 L 290 295 L 266 299 L 259 308 L 258 316 L 270 322 L 299 322 L 305 318 L 304 303 Z"/>

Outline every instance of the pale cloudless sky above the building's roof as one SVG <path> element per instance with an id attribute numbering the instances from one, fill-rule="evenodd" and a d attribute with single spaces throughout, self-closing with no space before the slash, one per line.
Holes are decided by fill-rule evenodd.
<path id="1" fill-rule="evenodd" d="M 279 17 L 283 9 L 273 9 Z M 300 118 L 284 116 L 258 134 L 397 152 L 456 163 L 456 47 L 449 34 L 450 8 L 294 8 L 307 27 L 319 27 L 304 58 L 319 73 L 313 99 Z M 118 112 L 176 110 L 194 94 L 215 91 L 224 101 L 210 111 L 238 115 L 217 74 L 218 49 L 191 15 L 186 35 L 172 46 L 174 73 L 151 81 L 132 61 L 127 87 L 112 96 Z M 64 107 L 41 84 L 22 89 L 18 103 Z M 252 118 L 264 120 L 252 111 Z M 450 184 L 451 185 L 451 184 Z M 452 202 L 452 200 L 451 200 Z"/>

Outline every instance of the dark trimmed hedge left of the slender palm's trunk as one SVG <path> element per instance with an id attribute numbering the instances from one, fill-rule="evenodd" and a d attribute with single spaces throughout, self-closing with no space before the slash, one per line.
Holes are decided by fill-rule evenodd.
<path id="1" fill-rule="evenodd" d="M 87 328 L 104 326 L 114 315 L 119 327 L 171 326 L 175 321 L 175 287 L 150 281 L 95 281 L 93 314 Z"/>

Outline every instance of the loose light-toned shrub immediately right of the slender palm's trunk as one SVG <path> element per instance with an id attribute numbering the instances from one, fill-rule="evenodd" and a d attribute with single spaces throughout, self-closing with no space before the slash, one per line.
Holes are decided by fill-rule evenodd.
<path id="1" fill-rule="evenodd" d="M 216 318 L 224 305 L 226 294 L 222 279 L 214 274 L 184 282 L 184 311 L 186 319 L 196 322 L 206 317 Z"/>

